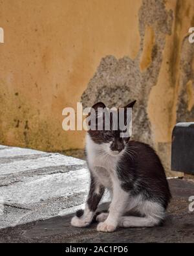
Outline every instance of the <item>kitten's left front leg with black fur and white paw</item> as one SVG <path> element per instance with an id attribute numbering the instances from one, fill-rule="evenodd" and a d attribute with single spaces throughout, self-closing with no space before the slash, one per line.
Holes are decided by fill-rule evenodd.
<path id="1" fill-rule="evenodd" d="M 91 175 L 91 186 L 89 196 L 85 205 L 85 210 L 79 210 L 71 220 L 71 224 L 74 227 L 86 227 L 91 224 L 94 218 L 98 204 L 103 196 L 105 188 L 98 183 L 97 180 Z"/>

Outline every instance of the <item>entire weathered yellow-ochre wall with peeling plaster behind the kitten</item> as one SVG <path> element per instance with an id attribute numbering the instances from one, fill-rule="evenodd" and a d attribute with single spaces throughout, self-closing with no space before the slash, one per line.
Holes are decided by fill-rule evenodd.
<path id="1" fill-rule="evenodd" d="M 0 143 L 83 148 L 63 108 L 136 99 L 133 137 L 169 172 L 173 126 L 194 119 L 193 23 L 193 0 L 0 1 Z"/>

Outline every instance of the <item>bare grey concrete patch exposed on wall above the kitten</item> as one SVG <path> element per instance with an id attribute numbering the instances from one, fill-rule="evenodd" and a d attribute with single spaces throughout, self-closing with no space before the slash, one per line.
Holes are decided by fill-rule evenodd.
<path id="1" fill-rule="evenodd" d="M 156 85 L 158 79 L 166 35 L 171 34 L 173 13 L 166 10 L 162 0 L 144 0 L 138 15 L 140 50 L 135 60 L 128 56 L 120 59 L 114 56 L 102 58 L 96 73 L 81 96 L 81 101 L 85 107 L 102 101 L 111 108 L 125 106 L 129 101 L 136 99 L 133 111 L 133 138 L 153 145 L 147 102 L 151 88 Z M 140 62 L 147 26 L 152 27 L 155 42 L 151 49 L 151 63 L 142 71 Z"/>

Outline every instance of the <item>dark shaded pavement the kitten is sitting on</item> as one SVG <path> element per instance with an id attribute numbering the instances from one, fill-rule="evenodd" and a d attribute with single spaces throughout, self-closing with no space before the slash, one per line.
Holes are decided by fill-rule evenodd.
<path id="1" fill-rule="evenodd" d="M 188 200 L 194 196 L 194 183 L 172 179 L 169 185 L 173 198 L 163 226 L 99 233 L 96 224 L 81 229 L 70 226 L 72 215 L 67 215 L 1 229 L 0 242 L 194 242 L 194 211 L 189 211 Z"/>

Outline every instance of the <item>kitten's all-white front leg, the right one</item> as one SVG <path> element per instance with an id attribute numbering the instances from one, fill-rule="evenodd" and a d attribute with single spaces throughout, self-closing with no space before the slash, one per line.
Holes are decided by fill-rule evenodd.
<path id="1" fill-rule="evenodd" d="M 109 215 L 104 222 L 100 222 L 97 226 L 97 231 L 113 232 L 118 226 L 120 217 L 125 211 L 128 202 L 129 194 L 125 192 L 118 181 L 113 183 L 113 200 L 109 207 Z"/>

